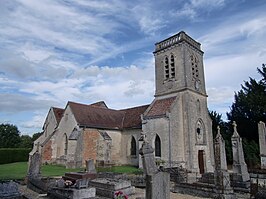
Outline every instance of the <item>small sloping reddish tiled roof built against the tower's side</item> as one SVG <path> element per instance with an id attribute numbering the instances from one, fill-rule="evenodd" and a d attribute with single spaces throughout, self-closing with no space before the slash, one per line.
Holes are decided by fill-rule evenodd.
<path id="1" fill-rule="evenodd" d="M 156 100 L 145 117 L 158 117 L 166 115 L 170 111 L 170 107 L 175 101 L 176 97 Z"/>

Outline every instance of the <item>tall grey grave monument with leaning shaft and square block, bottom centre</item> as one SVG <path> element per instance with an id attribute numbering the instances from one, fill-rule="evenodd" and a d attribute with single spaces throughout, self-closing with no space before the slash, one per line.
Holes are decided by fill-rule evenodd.
<path id="1" fill-rule="evenodd" d="M 170 174 L 160 172 L 155 164 L 154 149 L 144 140 L 140 149 L 146 175 L 146 199 L 170 198 Z"/>

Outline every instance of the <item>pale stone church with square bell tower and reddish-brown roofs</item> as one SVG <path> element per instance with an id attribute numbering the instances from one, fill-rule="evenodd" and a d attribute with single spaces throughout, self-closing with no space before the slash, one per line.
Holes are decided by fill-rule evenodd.
<path id="1" fill-rule="evenodd" d="M 31 152 L 43 162 L 82 167 L 141 166 L 143 137 L 155 158 L 198 173 L 213 172 L 212 121 L 207 109 L 201 45 L 185 32 L 155 44 L 155 98 L 149 105 L 114 110 L 104 102 L 68 102 L 50 108 Z"/>

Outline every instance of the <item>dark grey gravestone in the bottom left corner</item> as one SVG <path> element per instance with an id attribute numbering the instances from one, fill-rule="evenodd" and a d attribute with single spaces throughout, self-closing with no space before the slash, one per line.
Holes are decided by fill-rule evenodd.
<path id="1" fill-rule="evenodd" d="M 17 183 L 13 181 L 0 182 L 0 198 L 22 199 L 22 195 L 18 190 Z"/>

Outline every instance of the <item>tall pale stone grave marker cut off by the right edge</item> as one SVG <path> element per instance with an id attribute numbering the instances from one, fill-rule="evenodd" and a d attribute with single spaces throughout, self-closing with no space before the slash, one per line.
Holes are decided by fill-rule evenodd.
<path id="1" fill-rule="evenodd" d="M 260 143 L 260 165 L 261 169 L 266 169 L 266 128 L 265 123 L 258 123 L 259 143 Z"/>

